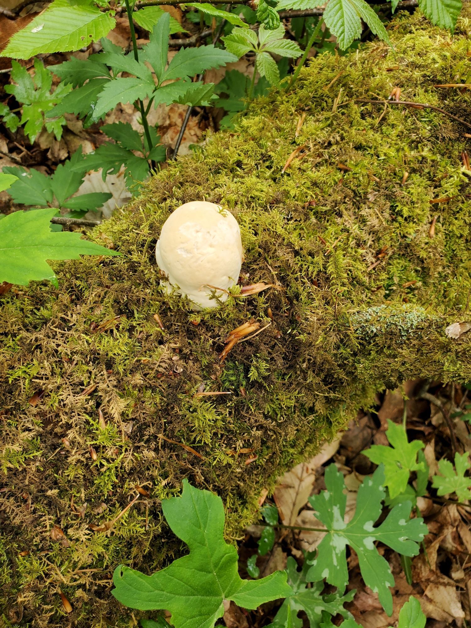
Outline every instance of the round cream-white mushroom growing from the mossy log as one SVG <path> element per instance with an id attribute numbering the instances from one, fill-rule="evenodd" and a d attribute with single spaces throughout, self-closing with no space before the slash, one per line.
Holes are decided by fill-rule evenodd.
<path id="1" fill-rule="evenodd" d="M 163 284 L 169 292 L 173 289 L 187 295 L 195 310 L 216 307 L 212 295 L 225 301 L 228 295 L 223 290 L 239 279 L 241 230 L 234 216 L 220 205 L 185 203 L 165 221 L 155 256 L 167 276 Z"/>

